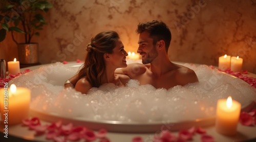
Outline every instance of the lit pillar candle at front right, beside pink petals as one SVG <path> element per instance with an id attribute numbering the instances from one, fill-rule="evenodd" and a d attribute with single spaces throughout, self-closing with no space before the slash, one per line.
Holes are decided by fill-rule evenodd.
<path id="1" fill-rule="evenodd" d="M 227 99 L 219 99 L 216 108 L 216 130 L 225 135 L 235 135 L 241 111 L 241 103 Z"/>

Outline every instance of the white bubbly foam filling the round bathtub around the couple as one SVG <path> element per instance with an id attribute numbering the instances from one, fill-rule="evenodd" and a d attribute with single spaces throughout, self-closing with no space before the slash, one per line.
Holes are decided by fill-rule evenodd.
<path id="1" fill-rule="evenodd" d="M 255 89 L 239 78 L 206 65 L 183 65 L 196 72 L 199 82 L 168 90 L 155 89 L 150 84 L 139 86 L 134 79 L 122 88 L 117 88 L 113 83 L 103 84 L 99 88 L 92 88 L 87 95 L 71 88 L 64 89 L 63 82 L 78 71 L 81 63 L 73 66 L 61 63 L 45 65 L 11 82 L 17 87 L 31 90 L 31 110 L 57 116 L 58 119 L 99 122 L 99 128 L 104 127 L 102 122 L 159 124 L 152 130 L 156 131 L 163 123 L 178 126 L 180 122 L 214 118 L 220 98 L 231 96 L 242 104 L 242 108 L 256 100 Z M 142 131 L 150 130 L 139 130 Z"/>

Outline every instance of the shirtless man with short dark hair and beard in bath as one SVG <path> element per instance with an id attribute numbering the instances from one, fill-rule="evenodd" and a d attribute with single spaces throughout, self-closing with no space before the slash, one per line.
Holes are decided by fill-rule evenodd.
<path id="1" fill-rule="evenodd" d="M 151 84 L 157 89 L 198 82 L 193 70 L 169 61 L 168 48 L 172 35 L 165 23 L 156 20 L 139 23 L 137 33 L 140 34 L 137 52 L 143 64 L 129 64 L 115 73 L 126 74 L 137 79 L 140 85 Z M 76 76 L 70 80 L 72 84 L 77 82 Z M 68 82 L 65 82 L 65 87 L 71 86 Z"/>

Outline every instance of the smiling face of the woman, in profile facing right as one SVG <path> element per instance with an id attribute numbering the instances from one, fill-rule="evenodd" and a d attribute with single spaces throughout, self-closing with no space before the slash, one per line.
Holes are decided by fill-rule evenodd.
<path id="1" fill-rule="evenodd" d="M 111 63 L 116 66 L 116 68 L 124 68 L 126 64 L 127 52 L 124 50 L 122 41 L 119 39 L 116 42 L 116 47 L 113 49 L 113 53 L 110 54 Z"/>

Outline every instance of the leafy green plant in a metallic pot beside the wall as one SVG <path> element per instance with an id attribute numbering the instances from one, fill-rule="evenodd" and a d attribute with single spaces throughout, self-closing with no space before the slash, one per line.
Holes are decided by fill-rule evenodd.
<path id="1" fill-rule="evenodd" d="M 7 32 L 11 32 L 20 64 L 38 63 L 38 43 L 32 43 L 31 39 L 39 36 L 39 30 L 47 24 L 43 14 L 50 8 L 52 5 L 47 0 L 1 0 L 0 42 L 5 40 Z M 13 32 L 25 34 L 24 42 L 18 43 Z"/>

